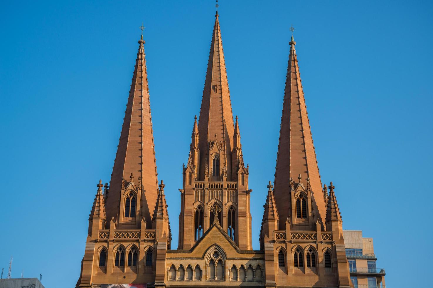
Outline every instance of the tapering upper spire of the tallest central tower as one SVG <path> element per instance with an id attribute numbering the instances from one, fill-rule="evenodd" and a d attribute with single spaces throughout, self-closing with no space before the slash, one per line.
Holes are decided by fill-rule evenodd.
<path id="1" fill-rule="evenodd" d="M 211 161 L 209 157 L 205 157 L 208 152 L 207 149 L 209 149 L 210 144 L 215 143 L 221 146 L 220 167 L 226 164 L 229 169 L 227 171 L 228 179 L 232 177 L 229 154 L 233 149 L 234 125 L 218 17 L 219 15 L 216 13 L 200 108 L 200 121 L 198 122 L 200 155 L 203 155 L 203 157 L 200 156 L 199 180 L 203 180 L 205 177 L 206 159 Z M 211 166 L 209 163 L 208 165 Z"/>

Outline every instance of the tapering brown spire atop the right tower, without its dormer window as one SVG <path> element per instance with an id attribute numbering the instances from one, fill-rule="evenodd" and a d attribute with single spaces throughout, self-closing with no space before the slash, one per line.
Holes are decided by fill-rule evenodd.
<path id="1" fill-rule="evenodd" d="M 281 116 L 281 130 L 278 144 L 277 165 L 275 167 L 275 200 L 281 219 L 286 219 L 290 213 L 289 181 L 297 179 L 306 183 L 310 179 L 312 191 L 312 208 L 315 217 L 325 221 L 326 208 L 314 151 L 313 137 L 308 120 L 307 105 L 301 84 L 301 73 L 296 56 L 293 35 L 290 44 L 286 86 L 284 91 L 283 111 Z M 281 223 L 280 228 L 284 224 Z"/>

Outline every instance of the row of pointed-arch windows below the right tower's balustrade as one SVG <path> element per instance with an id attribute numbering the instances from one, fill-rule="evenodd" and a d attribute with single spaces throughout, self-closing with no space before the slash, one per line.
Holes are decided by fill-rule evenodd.
<path id="1" fill-rule="evenodd" d="M 284 248 L 277 250 L 278 255 L 278 267 L 287 272 L 287 252 Z M 308 246 L 303 249 L 301 246 L 296 246 L 292 249 L 291 253 L 293 268 L 304 271 L 304 268 L 308 268 L 317 272 L 319 266 L 318 263 L 318 252 L 312 246 Z M 324 268 L 333 268 L 332 254 L 330 249 L 323 251 L 323 266 Z"/>

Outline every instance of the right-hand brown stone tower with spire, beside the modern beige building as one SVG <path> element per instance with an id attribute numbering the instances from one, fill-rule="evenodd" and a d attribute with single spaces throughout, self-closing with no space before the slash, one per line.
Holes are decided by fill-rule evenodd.
<path id="1" fill-rule="evenodd" d="M 289 45 L 275 189 L 269 183 L 260 234 L 266 283 L 352 287 L 334 187 L 328 196 L 320 182 L 293 35 Z"/>

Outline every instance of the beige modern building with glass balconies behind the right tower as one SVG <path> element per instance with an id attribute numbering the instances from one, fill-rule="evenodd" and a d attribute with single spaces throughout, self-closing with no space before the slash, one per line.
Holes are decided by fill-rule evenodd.
<path id="1" fill-rule="evenodd" d="M 373 238 L 362 231 L 343 230 L 350 280 L 355 288 L 385 288 L 385 269 L 376 265 Z"/>

